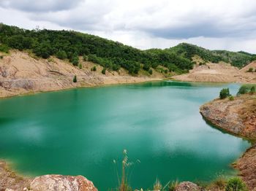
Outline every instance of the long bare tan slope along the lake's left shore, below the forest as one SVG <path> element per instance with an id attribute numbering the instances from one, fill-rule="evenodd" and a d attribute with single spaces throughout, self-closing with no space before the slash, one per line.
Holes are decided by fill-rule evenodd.
<path id="1" fill-rule="evenodd" d="M 153 71 L 151 77 L 142 74 L 132 77 L 124 69 L 118 72 L 107 70 L 103 75 L 102 66 L 81 58 L 80 63 L 82 69 L 58 58 L 32 58 L 29 53 L 12 50 L 0 59 L 0 98 L 73 87 L 146 82 L 163 77 L 157 71 Z M 91 71 L 93 66 L 97 66 L 97 71 Z M 78 77 L 77 83 L 72 81 L 75 75 Z"/>

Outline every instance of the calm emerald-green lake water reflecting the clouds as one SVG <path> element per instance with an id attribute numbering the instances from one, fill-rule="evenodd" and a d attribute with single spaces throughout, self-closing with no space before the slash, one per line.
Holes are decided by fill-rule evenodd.
<path id="1" fill-rule="evenodd" d="M 2 99 L 0 158 L 21 174 L 80 174 L 99 190 L 118 186 L 123 149 L 133 188 L 230 176 L 249 143 L 199 113 L 222 87 L 239 85 L 146 82 Z"/>

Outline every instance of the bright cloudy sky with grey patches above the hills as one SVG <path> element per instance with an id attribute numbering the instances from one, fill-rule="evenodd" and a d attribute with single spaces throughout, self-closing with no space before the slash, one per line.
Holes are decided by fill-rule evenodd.
<path id="1" fill-rule="evenodd" d="M 256 0 L 0 0 L 0 23 L 67 29 L 139 49 L 181 42 L 256 53 Z"/>

